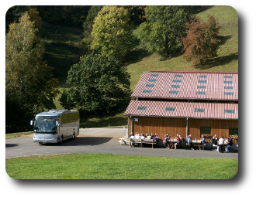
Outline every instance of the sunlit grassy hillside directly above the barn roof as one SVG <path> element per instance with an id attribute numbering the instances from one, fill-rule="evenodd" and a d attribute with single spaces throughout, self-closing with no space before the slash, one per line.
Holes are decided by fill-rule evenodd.
<path id="1" fill-rule="evenodd" d="M 197 16 L 206 21 L 207 13 L 214 15 L 220 22 L 221 46 L 218 56 L 208 61 L 205 66 L 193 66 L 191 63 L 186 63 L 182 56 L 161 61 L 161 57 L 154 53 L 128 66 L 131 74 L 131 90 L 136 87 L 144 71 L 238 72 L 238 15 L 236 10 L 230 6 L 214 6 Z"/>

